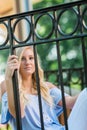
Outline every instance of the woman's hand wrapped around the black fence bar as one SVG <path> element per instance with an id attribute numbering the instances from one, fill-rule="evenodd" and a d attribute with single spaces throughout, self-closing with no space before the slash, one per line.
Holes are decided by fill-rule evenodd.
<path id="1" fill-rule="evenodd" d="M 14 70 L 18 70 L 18 69 L 19 69 L 18 57 L 16 55 L 9 56 L 7 61 L 5 78 L 6 79 L 12 78 Z"/>

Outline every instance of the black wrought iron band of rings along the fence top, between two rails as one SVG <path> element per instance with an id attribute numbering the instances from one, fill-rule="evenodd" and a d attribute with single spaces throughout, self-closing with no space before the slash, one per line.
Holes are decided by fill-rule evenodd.
<path id="1" fill-rule="evenodd" d="M 66 22 L 63 22 L 61 24 L 61 21 L 64 20 L 63 17 L 66 13 L 68 16 L 70 16 L 66 18 L 67 22 L 69 23 L 71 22 L 72 25 L 74 23 L 72 27 L 69 27 L 70 31 L 64 28 L 64 26 L 66 26 Z M 74 16 L 74 19 L 72 19 L 72 16 Z M 30 44 L 42 44 L 52 41 L 58 42 L 66 39 L 86 37 L 87 36 L 86 16 L 87 16 L 86 2 L 80 1 L 0 18 L 0 25 L 3 24 L 7 32 L 6 39 L 0 45 L 0 49 L 10 47 L 10 45 L 5 46 L 9 42 L 9 35 L 10 35 L 8 31 L 9 20 L 11 21 L 11 29 L 12 29 L 11 33 L 13 35 L 13 41 L 18 43 L 18 45 L 13 46 L 14 48 L 16 48 L 18 46 L 23 45 L 25 46 Z M 40 20 L 45 21 L 45 19 L 48 19 L 48 23 L 51 26 L 48 34 L 46 34 L 46 36 L 41 36 L 39 31 L 42 28 L 42 26 L 39 26 L 38 23 Z M 17 26 L 22 21 L 26 22 L 26 24 L 28 24 L 29 27 L 28 34 L 24 40 L 23 39 L 20 40 L 16 34 Z M 44 24 L 46 23 L 44 22 Z M 55 29 L 57 31 L 58 37 L 55 36 Z M 82 29 L 83 31 L 81 32 Z M 32 37 L 35 37 L 36 40 L 31 42 L 30 39 Z"/>

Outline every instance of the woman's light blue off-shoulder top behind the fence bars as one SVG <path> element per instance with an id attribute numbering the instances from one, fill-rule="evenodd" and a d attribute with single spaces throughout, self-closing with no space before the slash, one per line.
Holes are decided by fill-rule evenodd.
<path id="1" fill-rule="evenodd" d="M 53 97 L 53 107 L 50 107 L 42 98 L 44 128 L 45 130 L 65 130 L 65 127 L 58 121 L 58 116 L 63 112 L 63 107 L 58 105 L 62 99 L 61 91 L 58 88 L 51 88 L 50 95 Z M 41 130 L 38 96 L 30 94 L 26 96 L 29 98 L 29 103 L 25 107 L 25 116 L 21 119 L 22 130 Z M 8 110 L 7 93 L 4 93 L 2 96 L 1 123 L 7 122 L 10 122 L 12 130 L 17 130 L 15 118 Z"/>

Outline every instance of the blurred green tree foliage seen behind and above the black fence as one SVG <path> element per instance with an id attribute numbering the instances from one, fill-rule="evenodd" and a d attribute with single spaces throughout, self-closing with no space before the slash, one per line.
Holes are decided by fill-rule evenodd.
<path id="1" fill-rule="evenodd" d="M 44 7 L 50 7 L 50 6 L 55 6 L 58 4 L 74 2 L 74 1 L 77 1 L 77 0 L 69 0 L 69 1 L 68 0 L 50 0 L 50 1 L 41 0 L 41 2 L 34 4 L 33 7 L 34 9 L 42 9 Z M 74 7 L 74 9 L 76 9 L 76 7 Z M 84 7 L 82 6 L 82 11 L 83 9 Z M 57 11 L 57 15 L 59 15 L 59 13 L 60 11 Z M 84 15 L 84 22 L 85 22 L 85 25 L 87 26 L 86 15 L 87 14 Z M 35 17 L 35 19 L 36 18 L 37 16 Z M 61 28 L 62 33 L 70 34 L 75 29 L 77 22 L 78 20 L 77 20 L 76 13 L 73 12 L 73 10 L 69 10 L 69 11 L 66 10 L 65 12 L 62 12 L 62 15 L 60 16 L 60 20 L 58 21 L 58 24 L 59 24 L 59 27 Z M 48 19 L 46 15 L 41 17 L 38 20 L 38 25 L 36 26 L 36 30 L 40 37 L 43 37 L 43 38 L 46 37 L 52 30 L 52 23 L 51 23 L 50 18 Z M 79 31 L 80 31 L 80 26 L 78 27 L 78 30 L 75 34 L 79 34 Z M 58 35 L 61 36 L 61 34 L 58 34 Z M 55 35 L 53 34 L 51 38 L 55 38 Z M 87 48 L 86 41 L 87 39 L 85 38 L 85 46 Z M 64 40 L 64 41 L 61 41 L 59 44 L 60 44 L 62 68 L 78 68 L 78 67 L 84 66 L 81 39 Z M 42 61 L 42 68 L 44 70 L 58 69 L 58 60 L 57 60 L 57 56 L 55 56 L 56 49 L 53 52 L 54 46 L 56 46 L 56 43 L 46 43 L 44 45 L 39 45 L 37 47 L 37 51 Z M 73 76 L 73 80 L 75 81 L 77 77 Z M 48 80 L 54 82 L 55 76 L 50 75 Z M 78 89 L 81 88 L 81 85 L 79 84 L 75 85 L 72 82 L 70 82 L 70 86 L 76 87 Z"/>

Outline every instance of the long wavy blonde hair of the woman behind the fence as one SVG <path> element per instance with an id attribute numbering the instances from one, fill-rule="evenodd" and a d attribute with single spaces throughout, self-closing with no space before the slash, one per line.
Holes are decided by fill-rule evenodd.
<path id="1" fill-rule="evenodd" d="M 21 62 L 23 52 L 26 49 L 32 49 L 33 50 L 33 47 L 32 46 L 22 47 L 22 48 L 17 50 L 17 56 L 19 58 L 19 62 Z M 38 64 L 38 74 L 39 74 L 41 96 L 50 106 L 52 106 L 53 100 L 52 100 L 52 97 L 50 96 L 50 93 L 49 93 L 49 87 L 48 87 L 47 83 L 44 81 L 44 72 L 41 68 L 40 59 L 39 59 L 38 54 L 37 54 L 37 64 Z M 28 100 L 27 100 L 25 93 L 24 93 L 24 87 L 22 85 L 22 77 L 20 75 L 20 72 L 18 72 L 18 78 L 19 78 L 20 98 L 22 98 L 23 103 L 26 104 L 28 102 Z M 37 91 L 37 85 L 36 85 L 37 82 L 36 82 L 35 72 L 32 76 L 32 79 L 33 79 L 33 88 Z"/>

